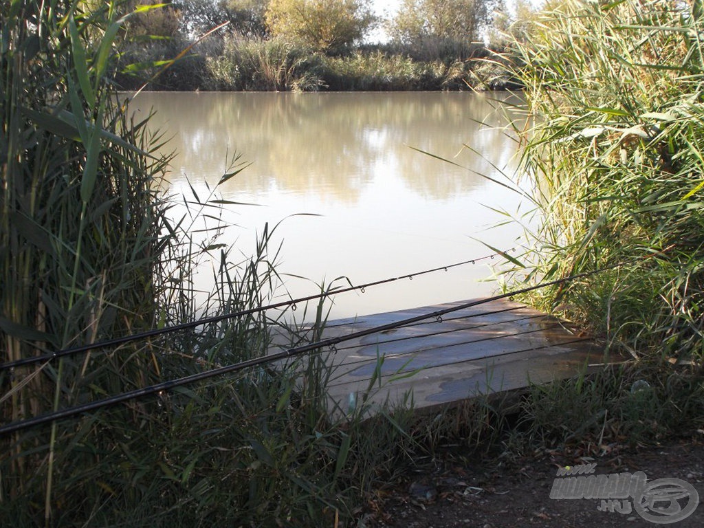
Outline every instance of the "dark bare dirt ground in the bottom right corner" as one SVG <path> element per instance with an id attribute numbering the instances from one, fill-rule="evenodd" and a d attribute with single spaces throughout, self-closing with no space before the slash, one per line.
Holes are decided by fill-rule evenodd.
<path id="1" fill-rule="evenodd" d="M 365 524 L 378 528 L 653 528 L 667 521 L 674 527 L 704 527 L 702 504 L 681 520 L 677 520 L 681 514 L 646 512 L 657 518 L 658 522 L 653 522 L 631 507 L 632 499 L 621 505 L 629 513 L 619 513 L 603 508 L 599 499 L 550 498 L 560 467 L 596 463 L 593 474 L 597 475 L 643 471 L 648 482 L 681 479 L 691 484 L 704 502 L 703 432 L 693 439 L 673 439 L 658 447 L 611 446 L 593 458 L 559 451 L 541 451 L 524 458 L 477 458 L 479 455 L 473 460 L 448 458 L 434 463 L 432 471 L 407 474 L 394 489 L 379 492 L 370 501 Z M 659 503 L 660 508 L 686 511 L 689 505 L 691 509 L 689 501 L 697 499 L 692 498 L 691 487 L 683 489 L 689 491 L 677 499 L 677 505 L 667 501 Z"/>

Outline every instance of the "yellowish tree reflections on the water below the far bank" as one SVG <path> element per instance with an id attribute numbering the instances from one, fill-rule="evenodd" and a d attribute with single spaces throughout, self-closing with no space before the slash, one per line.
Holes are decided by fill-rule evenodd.
<path id="1" fill-rule="evenodd" d="M 482 178 L 409 146 L 484 174 L 492 172 L 491 165 L 460 152 L 463 143 L 499 165 L 510 156 L 503 132 L 488 128 L 500 125 L 501 116 L 477 94 L 178 93 L 140 94 L 133 103 L 142 112 L 152 107 L 153 123 L 173 136 L 175 177 L 217 182 L 228 150 L 253 161 L 253 170 L 224 191 L 254 194 L 275 185 L 356 201 L 375 168 L 387 167 L 410 189 L 447 199 Z"/>

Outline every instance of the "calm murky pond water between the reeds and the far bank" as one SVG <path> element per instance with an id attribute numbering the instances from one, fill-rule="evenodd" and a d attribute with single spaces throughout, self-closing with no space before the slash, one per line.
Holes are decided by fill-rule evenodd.
<path id="1" fill-rule="evenodd" d="M 306 277 L 286 278 L 290 294 L 303 296 L 341 276 L 362 284 L 491 253 L 477 239 L 502 249 L 513 246 L 518 228 L 491 227 L 505 220 L 491 208 L 515 213 L 519 196 L 477 175 L 503 179 L 497 168 L 513 175 L 515 143 L 501 130 L 494 98 L 430 92 L 142 93 L 132 108 L 140 113 L 153 108 L 153 127 L 172 137 L 165 147 L 177 151 L 172 194 L 191 197 L 190 182 L 204 199 L 228 157 L 239 153 L 251 162 L 218 191 L 222 199 L 256 206 L 225 206 L 223 218 L 237 227 L 218 242 L 251 254 L 265 222 L 281 222 L 274 237 L 275 244 L 282 242 L 278 270 Z M 315 216 L 291 216 L 296 213 Z M 488 264 L 494 263 L 341 294 L 331 316 L 485 296 L 496 289 L 485 282 L 492 274 Z M 205 268 L 203 287 L 210 275 Z"/>

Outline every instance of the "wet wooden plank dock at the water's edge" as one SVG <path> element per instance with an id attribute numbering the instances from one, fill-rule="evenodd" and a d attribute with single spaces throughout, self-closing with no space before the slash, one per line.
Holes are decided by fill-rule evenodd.
<path id="1" fill-rule="evenodd" d="M 466 303 L 330 321 L 322 339 Z M 376 379 L 372 401 L 388 398 L 397 403 L 412 390 L 415 408 L 425 408 L 564 379 L 605 362 L 601 348 L 589 337 L 550 315 L 508 300 L 344 341 L 327 358 L 335 367 L 329 394 L 340 410 L 358 401 L 372 377 Z"/>

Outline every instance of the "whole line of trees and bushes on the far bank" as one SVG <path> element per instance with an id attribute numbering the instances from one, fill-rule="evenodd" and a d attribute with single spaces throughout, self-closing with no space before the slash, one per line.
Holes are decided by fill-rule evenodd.
<path id="1" fill-rule="evenodd" d="M 174 0 L 132 17 L 117 77 L 136 88 L 153 63 L 221 27 L 153 89 L 453 89 L 496 47 L 508 13 L 505 0 L 403 0 L 388 18 L 371 0 Z M 371 42 L 375 31 L 386 41 Z"/>

